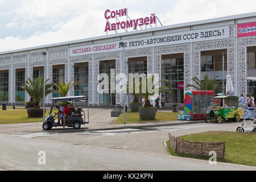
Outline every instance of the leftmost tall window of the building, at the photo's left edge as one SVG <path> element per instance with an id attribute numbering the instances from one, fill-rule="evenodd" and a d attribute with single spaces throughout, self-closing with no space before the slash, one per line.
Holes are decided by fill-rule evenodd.
<path id="1" fill-rule="evenodd" d="M 9 101 L 9 73 L 0 73 L 0 101 Z"/>

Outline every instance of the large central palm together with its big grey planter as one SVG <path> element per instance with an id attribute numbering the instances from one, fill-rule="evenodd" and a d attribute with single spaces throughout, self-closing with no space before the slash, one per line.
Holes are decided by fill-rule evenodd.
<path id="1" fill-rule="evenodd" d="M 145 81 L 145 80 L 146 80 L 146 90 L 141 90 L 142 89 L 141 88 L 140 89 L 140 94 L 145 97 L 146 103 L 145 103 L 144 107 L 139 107 L 139 117 L 142 120 L 145 120 L 145 119 L 154 120 L 155 116 L 156 116 L 157 109 L 155 107 L 151 107 L 149 97 L 154 96 L 155 93 L 150 93 L 149 92 L 150 90 L 148 90 L 148 81 L 151 81 L 151 83 L 153 83 L 151 85 L 152 90 L 155 90 L 155 88 L 158 88 L 158 86 L 162 82 L 166 83 L 166 86 L 161 86 L 161 87 L 158 88 L 159 93 L 166 92 L 166 93 L 169 93 L 171 95 L 172 94 L 172 89 L 171 89 L 171 86 L 169 85 L 168 80 L 166 80 L 166 79 L 160 80 L 156 84 L 154 84 L 154 76 L 148 76 L 148 77 L 146 77 L 146 79 L 142 80 L 142 82 Z M 142 82 L 141 82 L 140 85 L 143 85 Z M 145 91 L 146 91 L 146 93 L 144 93 Z"/>

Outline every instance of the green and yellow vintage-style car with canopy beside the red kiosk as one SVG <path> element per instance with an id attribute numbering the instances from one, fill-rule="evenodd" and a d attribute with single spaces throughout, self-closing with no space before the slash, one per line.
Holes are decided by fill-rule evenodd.
<path id="1" fill-rule="evenodd" d="M 242 109 L 238 108 L 237 96 L 218 96 L 214 97 L 211 102 L 209 114 L 205 118 L 205 122 L 210 123 L 217 121 L 237 121 L 242 119 Z"/>

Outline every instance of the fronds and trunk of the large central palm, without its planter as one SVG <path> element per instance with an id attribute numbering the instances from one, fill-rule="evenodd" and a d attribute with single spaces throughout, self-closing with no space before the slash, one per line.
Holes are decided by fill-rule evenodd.
<path id="1" fill-rule="evenodd" d="M 151 107 L 151 103 L 150 103 L 150 100 L 149 100 L 149 97 L 150 96 L 154 96 L 154 94 L 155 93 L 149 93 L 148 91 L 148 79 L 150 79 L 150 81 L 151 82 L 153 82 L 154 83 L 154 76 L 149 76 L 149 77 L 146 77 L 146 93 L 142 93 L 142 90 L 141 90 L 141 88 L 140 88 L 140 94 L 142 95 L 142 96 L 145 96 L 145 101 L 146 101 L 146 103 L 145 103 L 145 106 L 144 107 Z M 161 86 L 161 87 L 159 87 L 159 93 L 163 93 L 163 92 L 166 92 L 166 93 L 168 93 L 168 94 L 172 94 L 172 88 L 171 88 L 171 86 L 169 85 L 169 82 L 168 82 L 168 80 L 166 80 L 166 79 L 162 79 L 162 80 L 160 80 L 160 81 L 158 81 L 155 85 L 152 85 L 152 90 L 154 90 L 160 83 L 162 83 L 162 82 L 165 82 L 166 83 L 166 86 Z M 140 82 L 141 84 L 140 85 L 142 85 L 142 81 Z"/>

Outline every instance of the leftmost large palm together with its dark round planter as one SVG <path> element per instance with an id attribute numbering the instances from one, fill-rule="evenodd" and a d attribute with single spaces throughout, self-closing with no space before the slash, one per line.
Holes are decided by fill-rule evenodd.
<path id="1" fill-rule="evenodd" d="M 43 109 L 40 108 L 40 101 L 44 97 L 44 84 L 46 85 L 46 96 L 52 93 L 52 84 L 47 84 L 49 81 L 44 82 L 43 77 L 38 77 L 36 79 L 27 78 L 27 81 L 22 86 L 22 88 L 28 93 L 33 101 L 34 106 L 27 109 L 27 114 L 29 118 L 43 117 Z"/>

